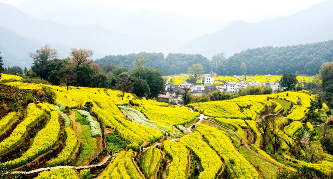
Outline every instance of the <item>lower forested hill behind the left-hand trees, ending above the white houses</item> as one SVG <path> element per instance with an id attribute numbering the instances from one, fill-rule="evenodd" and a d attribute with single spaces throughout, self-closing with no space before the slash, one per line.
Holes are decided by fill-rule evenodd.
<path id="1" fill-rule="evenodd" d="M 152 67 L 160 69 L 164 75 L 187 73 L 188 68 L 193 65 L 200 63 L 205 73 L 209 73 L 211 70 L 209 60 L 201 54 L 173 54 L 169 53 L 164 58 L 163 53 L 130 53 L 128 55 L 108 55 L 103 58 L 97 59 L 95 63 L 103 66 L 105 62 L 112 62 L 117 64 L 119 67 L 127 67 L 132 69 L 132 62 L 136 58 L 144 57 L 147 61 L 143 63 L 145 67 Z"/>

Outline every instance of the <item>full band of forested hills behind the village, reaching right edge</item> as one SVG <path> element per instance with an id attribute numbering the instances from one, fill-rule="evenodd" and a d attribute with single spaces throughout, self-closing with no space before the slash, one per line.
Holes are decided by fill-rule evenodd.
<path id="1" fill-rule="evenodd" d="M 223 49 L 221 49 L 223 50 Z M 147 59 L 145 67 L 161 70 L 165 75 L 186 73 L 193 64 L 201 64 L 204 73 L 214 71 L 219 75 L 282 75 L 284 73 L 318 74 L 321 64 L 333 61 L 333 40 L 286 47 L 266 46 L 247 49 L 226 58 L 224 53 L 216 54 L 211 60 L 201 54 L 130 53 L 108 55 L 95 62 L 102 65 L 112 62 L 119 67 L 131 69 L 131 63 L 138 57 Z"/>

